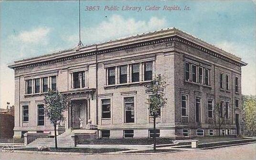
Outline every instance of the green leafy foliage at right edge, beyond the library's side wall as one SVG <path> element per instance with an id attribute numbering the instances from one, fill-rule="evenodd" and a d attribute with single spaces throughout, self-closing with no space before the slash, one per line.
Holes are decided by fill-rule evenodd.
<path id="1" fill-rule="evenodd" d="M 241 125 L 244 127 L 246 134 L 249 136 L 256 135 L 256 96 L 243 95 L 242 96 L 242 121 Z"/>

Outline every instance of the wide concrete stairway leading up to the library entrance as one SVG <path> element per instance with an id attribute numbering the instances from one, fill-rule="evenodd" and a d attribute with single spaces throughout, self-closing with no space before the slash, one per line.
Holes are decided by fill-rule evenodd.
<path id="1" fill-rule="evenodd" d="M 57 145 L 58 147 L 74 147 L 75 141 L 72 141 L 71 131 L 66 131 L 57 136 Z M 39 147 L 42 145 L 46 145 L 49 147 L 55 147 L 55 139 L 54 138 L 37 138 L 35 141 L 32 141 L 27 146 L 28 147 Z"/>

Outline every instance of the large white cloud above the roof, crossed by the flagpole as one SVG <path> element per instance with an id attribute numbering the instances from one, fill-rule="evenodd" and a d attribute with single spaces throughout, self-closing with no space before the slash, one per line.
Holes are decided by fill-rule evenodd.
<path id="1" fill-rule="evenodd" d="M 166 20 L 164 18 L 159 19 L 157 17 L 152 17 L 149 21 L 136 21 L 133 18 L 124 19 L 120 15 L 113 15 L 97 26 L 82 28 L 81 39 L 85 45 L 145 33 L 164 28 L 165 26 Z M 77 37 L 77 35 L 69 35 L 63 38 L 70 43 L 75 44 L 78 41 Z"/>

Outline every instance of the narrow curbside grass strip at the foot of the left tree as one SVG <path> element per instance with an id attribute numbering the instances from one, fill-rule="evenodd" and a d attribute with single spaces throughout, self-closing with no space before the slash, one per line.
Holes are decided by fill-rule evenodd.
<path id="1" fill-rule="evenodd" d="M 15 149 L 19 151 L 38 151 L 37 148 L 20 148 Z M 90 148 L 50 148 L 51 152 L 78 152 L 78 153 L 107 153 L 107 152 L 115 152 L 115 151 L 128 151 L 128 149 L 107 149 L 107 148 L 100 148 L 100 149 L 90 149 Z"/>

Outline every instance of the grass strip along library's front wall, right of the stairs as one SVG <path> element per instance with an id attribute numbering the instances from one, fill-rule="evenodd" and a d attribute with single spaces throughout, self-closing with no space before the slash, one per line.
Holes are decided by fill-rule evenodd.
<path id="1" fill-rule="evenodd" d="M 140 139 L 96 139 L 92 141 L 85 141 L 82 144 L 129 144 L 129 145 L 150 145 L 153 144 L 153 139 L 149 138 L 140 138 Z M 157 144 L 171 144 L 173 143 L 173 140 L 169 138 L 157 138 L 156 139 Z"/>

